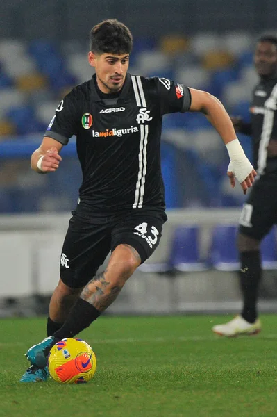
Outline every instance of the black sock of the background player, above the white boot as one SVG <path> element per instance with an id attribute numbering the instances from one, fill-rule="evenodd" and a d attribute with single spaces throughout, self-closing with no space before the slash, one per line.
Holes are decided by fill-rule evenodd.
<path id="1" fill-rule="evenodd" d="M 242 317 L 253 323 L 257 316 L 258 287 L 262 278 L 260 251 L 240 252 L 240 287 L 243 295 Z"/>

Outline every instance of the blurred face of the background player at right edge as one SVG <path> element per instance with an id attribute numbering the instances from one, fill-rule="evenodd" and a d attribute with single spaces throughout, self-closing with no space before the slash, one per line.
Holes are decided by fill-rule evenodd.
<path id="1" fill-rule="evenodd" d="M 260 76 L 271 76 L 277 72 L 277 47 L 271 42 L 258 42 L 254 63 Z"/>

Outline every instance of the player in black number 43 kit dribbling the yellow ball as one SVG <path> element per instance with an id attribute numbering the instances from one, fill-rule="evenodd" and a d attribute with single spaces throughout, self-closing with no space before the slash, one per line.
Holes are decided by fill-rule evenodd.
<path id="1" fill-rule="evenodd" d="M 31 157 L 36 172 L 56 171 L 60 150 L 76 135 L 83 182 L 62 247 L 48 337 L 28 350 L 31 367 L 22 382 L 46 380 L 53 344 L 96 320 L 156 249 L 167 220 L 160 169 L 162 115 L 201 111 L 226 145 L 231 186 L 236 178 L 246 193 L 256 174 L 219 100 L 168 79 L 128 74 L 133 40 L 124 24 L 116 19 L 97 24 L 90 42 L 94 76 L 61 101 Z M 110 251 L 106 270 L 97 275 Z"/>

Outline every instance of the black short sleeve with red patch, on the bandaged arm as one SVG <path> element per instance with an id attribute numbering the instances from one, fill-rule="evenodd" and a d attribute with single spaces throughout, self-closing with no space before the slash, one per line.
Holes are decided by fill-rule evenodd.
<path id="1" fill-rule="evenodd" d="M 192 97 L 186 85 L 169 79 L 156 78 L 161 115 L 190 110 Z"/>

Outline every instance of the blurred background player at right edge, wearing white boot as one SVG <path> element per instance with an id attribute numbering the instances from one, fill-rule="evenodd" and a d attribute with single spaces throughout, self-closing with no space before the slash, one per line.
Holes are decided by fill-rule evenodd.
<path id="1" fill-rule="evenodd" d="M 277 223 L 277 37 L 263 35 L 254 55 L 260 76 L 253 91 L 251 123 L 233 117 L 237 131 L 253 138 L 254 165 L 258 177 L 242 208 L 237 247 L 240 252 L 240 288 L 243 307 L 240 315 L 213 332 L 222 336 L 258 334 L 258 286 L 262 278 L 260 241 Z"/>

